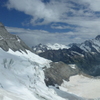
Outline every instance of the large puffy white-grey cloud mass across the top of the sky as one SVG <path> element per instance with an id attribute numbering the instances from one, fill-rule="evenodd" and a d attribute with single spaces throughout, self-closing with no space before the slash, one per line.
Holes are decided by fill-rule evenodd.
<path id="1" fill-rule="evenodd" d="M 95 11 L 100 11 L 100 0 L 8 0 L 8 9 L 16 9 L 30 15 L 30 23 L 44 25 L 62 22 L 82 27 L 99 25 Z M 58 27 L 61 28 L 61 27 Z"/>

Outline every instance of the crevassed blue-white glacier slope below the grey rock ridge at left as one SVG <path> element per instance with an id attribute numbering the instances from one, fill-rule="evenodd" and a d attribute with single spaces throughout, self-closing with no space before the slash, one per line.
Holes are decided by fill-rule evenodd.
<path id="1" fill-rule="evenodd" d="M 0 100 L 64 100 L 45 85 L 42 68 L 50 61 L 27 53 L 0 49 Z"/>

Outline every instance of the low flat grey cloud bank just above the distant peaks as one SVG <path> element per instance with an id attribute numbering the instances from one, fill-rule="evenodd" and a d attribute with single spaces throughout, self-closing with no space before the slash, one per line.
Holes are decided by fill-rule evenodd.
<path id="1" fill-rule="evenodd" d="M 92 39 L 96 35 L 94 30 L 88 30 L 86 28 L 77 28 L 76 32 L 64 32 L 64 33 L 50 33 L 44 30 L 30 30 L 24 28 L 16 27 L 6 27 L 8 32 L 16 34 L 30 47 L 37 45 L 39 43 L 60 43 L 60 44 L 70 44 L 70 43 L 81 43 L 87 39 Z M 91 33 L 89 33 L 90 31 Z M 81 32 L 81 34 L 80 34 Z M 86 34 L 88 33 L 88 34 Z"/>

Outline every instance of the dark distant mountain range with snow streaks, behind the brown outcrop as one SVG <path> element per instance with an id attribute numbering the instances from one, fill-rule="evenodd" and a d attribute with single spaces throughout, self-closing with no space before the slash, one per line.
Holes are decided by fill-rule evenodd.
<path id="1" fill-rule="evenodd" d="M 80 44 L 63 45 L 64 48 L 62 48 L 62 45 L 60 47 L 60 45 L 59 49 L 48 49 L 48 46 L 45 45 L 45 50 L 38 52 L 38 55 L 54 62 L 62 61 L 66 64 L 76 64 L 80 70 L 89 75 L 100 75 L 100 35 Z M 41 44 L 40 50 L 43 50 L 42 47 Z"/>

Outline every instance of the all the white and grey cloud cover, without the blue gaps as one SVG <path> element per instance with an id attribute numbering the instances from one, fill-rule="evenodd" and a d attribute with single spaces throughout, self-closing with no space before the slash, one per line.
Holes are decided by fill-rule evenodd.
<path id="1" fill-rule="evenodd" d="M 22 11 L 30 15 L 30 23 L 33 25 L 44 25 L 49 23 L 65 23 L 76 27 L 64 25 L 51 25 L 56 29 L 73 29 L 66 33 L 49 33 L 43 30 L 25 30 L 7 28 L 9 32 L 19 33 L 18 35 L 30 46 L 38 43 L 63 43 L 81 42 L 94 38 L 100 34 L 100 0 L 50 0 L 48 3 L 43 0 L 8 0 L 7 8 Z M 72 3 L 73 2 L 73 3 Z M 30 43 L 30 41 L 33 41 Z"/>

